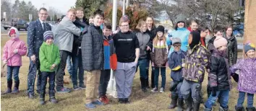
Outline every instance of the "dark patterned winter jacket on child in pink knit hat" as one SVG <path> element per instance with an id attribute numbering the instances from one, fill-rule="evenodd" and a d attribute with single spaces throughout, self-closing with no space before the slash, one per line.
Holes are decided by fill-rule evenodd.
<path id="1" fill-rule="evenodd" d="M 218 91 L 231 89 L 229 63 L 228 59 L 224 56 L 214 50 L 210 57 L 210 86 L 218 86 Z"/>

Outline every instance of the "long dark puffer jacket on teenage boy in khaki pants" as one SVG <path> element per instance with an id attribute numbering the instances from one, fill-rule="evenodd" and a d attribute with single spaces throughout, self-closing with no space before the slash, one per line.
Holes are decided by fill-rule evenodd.
<path id="1" fill-rule="evenodd" d="M 104 66 L 103 32 L 91 24 L 82 36 L 82 66 L 85 71 L 101 70 Z"/>

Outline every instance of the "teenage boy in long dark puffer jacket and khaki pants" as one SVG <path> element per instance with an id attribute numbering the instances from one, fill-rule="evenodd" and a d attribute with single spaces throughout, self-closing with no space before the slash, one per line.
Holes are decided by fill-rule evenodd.
<path id="1" fill-rule="evenodd" d="M 103 11 L 97 9 L 93 16 L 93 24 L 84 29 L 85 35 L 83 35 L 81 43 L 82 66 L 87 74 L 85 107 L 88 109 L 95 108 L 95 105 L 103 105 L 96 95 L 98 95 L 101 70 L 104 66 L 103 32 L 100 27 L 104 14 Z"/>

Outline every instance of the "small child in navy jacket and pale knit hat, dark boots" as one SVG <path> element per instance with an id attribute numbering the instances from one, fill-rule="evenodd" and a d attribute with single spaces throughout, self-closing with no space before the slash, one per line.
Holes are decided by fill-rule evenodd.
<path id="1" fill-rule="evenodd" d="M 180 88 L 182 86 L 183 76 L 182 68 L 185 66 L 185 57 L 187 55 L 184 50 L 181 50 L 182 41 L 179 37 L 174 37 L 171 41 L 174 46 L 174 52 L 168 58 L 168 66 L 171 68 L 171 104 L 168 109 L 174 109 L 178 103 L 178 110 L 183 110 L 184 99 Z"/>

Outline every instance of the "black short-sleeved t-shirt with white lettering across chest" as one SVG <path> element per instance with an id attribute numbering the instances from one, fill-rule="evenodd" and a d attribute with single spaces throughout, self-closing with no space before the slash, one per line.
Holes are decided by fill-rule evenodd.
<path id="1" fill-rule="evenodd" d="M 117 61 L 121 63 L 134 62 L 136 58 L 135 49 L 140 48 L 137 36 L 130 31 L 124 33 L 119 31 L 114 35 L 113 40 Z"/>

